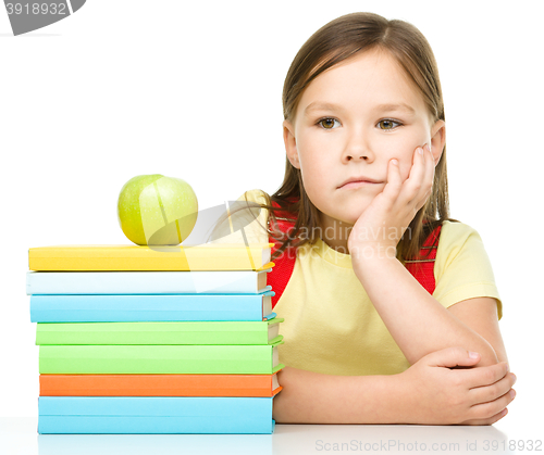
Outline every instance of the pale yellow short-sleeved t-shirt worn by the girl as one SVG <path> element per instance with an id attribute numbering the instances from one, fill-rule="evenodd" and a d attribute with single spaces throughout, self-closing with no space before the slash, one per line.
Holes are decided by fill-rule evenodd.
<path id="1" fill-rule="evenodd" d="M 246 192 L 248 201 L 264 203 L 260 190 Z M 244 200 L 244 194 L 238 199 Z M 268 211 L 245 228 L 252 241 L 267 242 Z M 239 232 L 221 241 L 243 241 Z M 490 296 L 503 304 L 480 235 L 463 223 L 444 222 L 434 263 L 433 296 L 448 307 L 457 302 Z M 284 318 L 280 362 L 327 375 L 394 375 L 410 364 L 375 311 L 354 273 L 349 254 L 331 249 L 321 239 L 297 251 L 293 275 L 274 306 Z M 424 336 L 424 334 L 422 334 Z"/>

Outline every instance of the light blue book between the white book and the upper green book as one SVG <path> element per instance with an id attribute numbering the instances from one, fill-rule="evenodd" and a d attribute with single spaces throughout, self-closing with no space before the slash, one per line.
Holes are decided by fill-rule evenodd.
<path id="1" fill-rule="evenodd" d="M 33 323 L 267 320 L 273 291 L 261 294 L 32 295 Z"/>

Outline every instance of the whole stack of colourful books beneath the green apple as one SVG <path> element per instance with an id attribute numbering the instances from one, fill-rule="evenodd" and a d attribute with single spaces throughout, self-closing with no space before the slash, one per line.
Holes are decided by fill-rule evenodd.
<path id="1" fill-rule="evenodd" d="M 272 433 L 272 243 L 29 249 L 39 433 Z"/>

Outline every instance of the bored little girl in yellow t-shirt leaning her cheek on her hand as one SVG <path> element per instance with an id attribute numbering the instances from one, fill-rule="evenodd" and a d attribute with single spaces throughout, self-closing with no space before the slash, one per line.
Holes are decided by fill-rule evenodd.
<path id="1" fill-rule="evenodd" d="M 516 380 L 502 301 L 479 233 L 449 218 L 425 38 L 376 14 L 338 17 L 295 56 L 283 105 L 284 181 L 239 198 L 265 208 L 246 240 L 275 243 L 276 422 L 499 420 Z"/>

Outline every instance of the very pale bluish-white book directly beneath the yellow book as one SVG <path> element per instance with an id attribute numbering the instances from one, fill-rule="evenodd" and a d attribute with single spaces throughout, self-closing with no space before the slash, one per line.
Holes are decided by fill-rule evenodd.
<path id="1" fill-rule="evenodd" d="M 27 271 L 26 294 L 258 294 L 269 271 Z"/>

